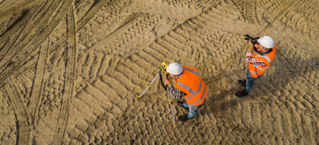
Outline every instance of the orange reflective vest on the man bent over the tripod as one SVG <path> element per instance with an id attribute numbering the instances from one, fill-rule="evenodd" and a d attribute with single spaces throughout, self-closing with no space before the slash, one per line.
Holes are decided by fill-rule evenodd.
<path id="1" fill-rule="evenodd" d="M 207 96 L 208 87 L 198 76 L 197 69 L 188 66 L 183 67 L 183 75 L 176 80 L 175 88 L 182 90 L 187 104 L 191 106 L 202 105 Z"/>

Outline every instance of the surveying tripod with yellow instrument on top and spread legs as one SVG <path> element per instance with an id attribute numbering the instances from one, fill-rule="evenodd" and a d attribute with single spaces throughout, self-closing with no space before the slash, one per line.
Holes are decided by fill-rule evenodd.
<path id="1" fill-rule="evenodd" d="M 160 78 L 160 81 L 161 81 L 161 84 L 164 88 L 164 90 L 167 90 L 167 96 L 168 96 L 168 101 L 169 101 L 169 104 L 171 105 L 171 112 L 172 112 L 172 118 L 173 118 L 173 125 L 174 125 L 174 128 L 176 128 L 176 124 L 175 124 L 175 115 L 174 115 L 174 109 L 173 109 L 173 98 L 172 98 L 172 92 L 169 91 L 169 86 L 165 86 L 164 83 L 163 83 L 163 79 L 162 79 L 162 75 L 161 73 L 164 73 L 164 76 L 167 78 L 167 79 L 170 79 L 169 78 L 169 73 L 166 71 L 167 69 L 167 65 L 168 65 L 168 62 L 162 62 L 163 64 L 163 67 L 161 70 L 159 70 L 159 73 L 157 74 L 157 76 L 155 76 L 155 78 L 152 80 L 152 82 L 150 84 L 148 84 L 148 87 L 143 91 L 143 93 L 139 96 L 137 96 L 137 98 L 141 98 L 144 93 L 151 87 L 151 85 L 154 83 L 154 81 L 159 77 Z M 171 97 L 169 97 L 169 93 L 171 94 Z"/>

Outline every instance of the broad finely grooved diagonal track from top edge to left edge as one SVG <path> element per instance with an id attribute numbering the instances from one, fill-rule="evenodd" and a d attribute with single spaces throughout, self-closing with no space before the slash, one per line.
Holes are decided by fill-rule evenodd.
<path id="1" fill-rule="evenodd" d="M 4 69 L 0 72 L 2 80 L 0 86 L 48 38 L 49 34 L 62 20 L 71 4 L 71 0 L 52 0 L 43 3 L 43 7 L 39 10 L 39 13 L 32 19 L 32 22 L 29 23 L 26 30 L 21 34 L 19 40 L 13 45 L 15 47 L 14 51 L 6 57 L 6 62 L 3 62 L 3 66 L 1 67 Z M 23 48 L 31 48 L 31 50 Z M 19 59 L 16 60 L 15 58 Z"/>

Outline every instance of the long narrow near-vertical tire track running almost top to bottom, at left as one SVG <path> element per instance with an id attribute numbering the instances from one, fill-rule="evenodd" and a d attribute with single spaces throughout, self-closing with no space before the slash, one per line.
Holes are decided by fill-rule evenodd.
<path id="1" fill-rule="evenodd" d="M 73 6 L 69 9 L 66 16 L 67 21 L 67 56 L 66 56 L 66 71 L 65 82 L 63 83 L 63 94 L 60 114 L 56 127 L 56 133 L 53 138 L 52 144 L 63 144 L 66 137 L 66 127 L 69 120 L 70 109 L 72 105 L 72 98 L 75 93 L 75 78 L 76 78 L 76 62 L 77 62 L 77 49 L 76 49 L 76 24 L 74 17 Z"/>

